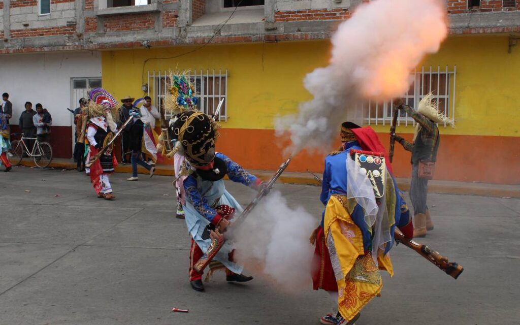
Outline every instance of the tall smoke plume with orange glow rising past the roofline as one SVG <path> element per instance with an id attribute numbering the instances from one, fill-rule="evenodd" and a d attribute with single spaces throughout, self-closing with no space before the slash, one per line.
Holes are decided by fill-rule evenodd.
<path id="1" fill-rule="evenodd" d="M 297 114 L 277 119 L 277 134 L 289 130 L 293 152 L 304 147 L 327 150 L 339 124 L 354 116 L 356 102 L 405 94 L 410 71 L 426 54 L 438 51 L 447 33 L 443 0 L 360 5 L 333 35 L 329 66 L 305 77 L 304 86 L 314 99 L 302 103 Z"/>

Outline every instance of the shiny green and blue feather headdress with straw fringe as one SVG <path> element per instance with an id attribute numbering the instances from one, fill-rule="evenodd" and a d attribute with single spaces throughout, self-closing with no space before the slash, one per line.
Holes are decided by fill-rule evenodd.
<path id="1" fill-rule="evenodd" d="M 164 108 L 173 114 L 185 110 L 197 110 L 199 102 L 195 85 L 186 76 L 187 72 L 170 72 L 170 87 L 167 88 Z"/>

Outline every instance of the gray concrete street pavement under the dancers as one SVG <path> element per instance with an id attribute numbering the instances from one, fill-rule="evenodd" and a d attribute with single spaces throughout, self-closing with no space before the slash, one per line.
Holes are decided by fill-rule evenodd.
<path id="1" fill-rule="evenodd" d="M 0 173 L 0 325 L 318 324 L 333 306 L 325 292 L 285 293 L 261 277 L 237 285 L 216 274 L 193 291 L 171 177 L 114 174 L 109 202 L 76 171 L 13 171 Z M 254 196 L 227 187 L 242 204 Z M 277 188 L 320 214 L 318 187 Z M 394 278 L 384 276 L 357 324 L 520 324 L 520 200 L 430 194 L 429 203 L 435 230 L 421 241 L 463 274 L 454 280 L 399 245 Z"/>

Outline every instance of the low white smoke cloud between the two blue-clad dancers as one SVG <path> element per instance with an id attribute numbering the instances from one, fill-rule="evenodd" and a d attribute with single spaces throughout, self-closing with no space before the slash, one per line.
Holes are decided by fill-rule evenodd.
<path id="1" fill-rule="evenodd" d="M 284 290 L 308 290 L 314 247 L 309 243 L 318 219 L 303 207 L 293 210 L 271 191 L 233 232 L 240 263 Z"/>

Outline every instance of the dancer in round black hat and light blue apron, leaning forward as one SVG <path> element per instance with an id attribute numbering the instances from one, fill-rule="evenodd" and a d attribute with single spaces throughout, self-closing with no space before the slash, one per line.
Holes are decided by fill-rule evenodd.
<path id="1" fill-rule="evenodd" d="M 172 126 L 175 150 L 186 158 L 178 172 L 181 188 L 181 203 L 184 207 L 186 226 L 191 236 L 190 284 L 194 290 L 204 290 L 202 274 L 193 269 L 206 252 L 210 239 L 202 233 L 209 224 L 215 227 L 211 236 L 222 236 L 235 213 L 242 212 L 240 204 L 224 185 L 224 176 L 253 189 L 259 189 L 262 181 L 246 172 L 239 164 L 220 152 L 215 152 L 216 131 L 219 126 L 209 116 L 199 111 L 186 111 Z M 177 183 L 179 184 L 179 183 Z M 226 269 L 226 280 L 246 282 L 252 277 L 242 275 L 243 267 L 233 261 L 233 247 L 227 241 L 215 256 L 218 263 L 210 265 L 210 273 L 218 268 Z"/>

